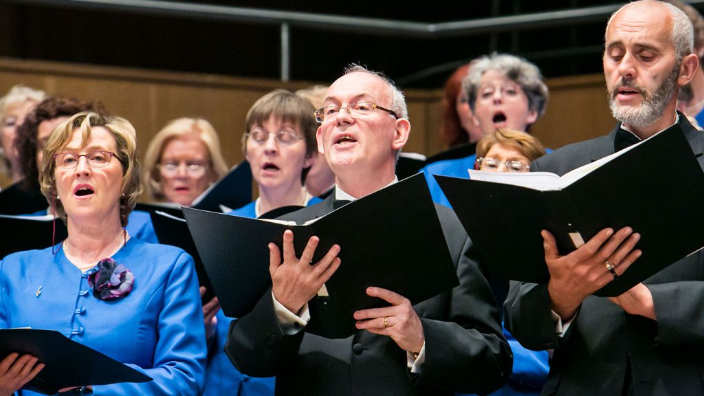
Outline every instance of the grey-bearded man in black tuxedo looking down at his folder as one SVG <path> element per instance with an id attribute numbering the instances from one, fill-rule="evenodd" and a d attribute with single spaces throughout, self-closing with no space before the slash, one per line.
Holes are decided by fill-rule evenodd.
<path id="1" fill-rule="evenodd" d="M 603 66 L 617 128 L 543 156 L 532 171 L 562 175 L 674 123 L 704 168 L 702 133 L 675 111 L 679 87 L 698 66 L 684 13 L 653 0 L 623 6 L 607 25 Z M 667 166 L 667 158 L 653 166 Z M 550 280 L 511 285 L 506 328 L 525 347 L 555 349 L 543 395 L 704 395 L 703 254 L 618 297 L 592 295 L 648 254 L 637 249 L 636 231 L 601 230 L 560 256 L 543 230 Z"/>

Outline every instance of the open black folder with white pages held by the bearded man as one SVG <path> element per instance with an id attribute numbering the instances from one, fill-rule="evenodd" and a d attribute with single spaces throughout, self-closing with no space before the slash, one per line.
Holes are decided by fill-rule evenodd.
<path id="1" fill-rule="evenodd" d="M 504 184 L 526 185 L 521 180 L 541 173 L 494 173 L 503 182 L 435 176 L 482 264 L 498 276 L 548 280 L 543 229 L 555 235 L 560 254 L 607 227 L 628 225 L 641 234 L 636 248 L 642 256 L 595 293 L 607 297 L 704 246 L 704 173 L 679 124 L 562 178 L 553 175 L 558 178 L 553 190 Z M 472 174 L 476 179 L 486 172 Z"/>

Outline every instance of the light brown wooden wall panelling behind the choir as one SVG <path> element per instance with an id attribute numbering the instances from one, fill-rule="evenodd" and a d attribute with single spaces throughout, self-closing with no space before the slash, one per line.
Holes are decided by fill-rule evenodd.
<path id="1" fill-rule="evenodd" d="M 230 165 L 242 158 L 244 117 L 256 99 L 277 87 L 295 90 L 313 85 L 0 58 L 0 93 L 19 83 L 50 94 L 100 99 L 109 111 L 134 124 L 142 151 L 168 120 L 206 118 L 220 133 Z M 603 76 L 557 78 L 547 83 L 551 89 L 548 111 L 532 129 L 546 146 L 557 148 L 604 135 L 612 128 Z M 439 137 L 441 94 L 441 89 L 406 92 L 412 124 L 406 151 L 434 154 L 444 149 Z"/>

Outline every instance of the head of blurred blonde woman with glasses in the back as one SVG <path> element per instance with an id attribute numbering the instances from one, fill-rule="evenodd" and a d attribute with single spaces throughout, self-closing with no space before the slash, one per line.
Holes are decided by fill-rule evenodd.
<path id="1" fill-rule="evenodd" d="M 202 118 L 170 121 L 149 143 L 144 168 L 151 196 L 181 206 L 191 206 L 227 173 L 218 133 Z"/>

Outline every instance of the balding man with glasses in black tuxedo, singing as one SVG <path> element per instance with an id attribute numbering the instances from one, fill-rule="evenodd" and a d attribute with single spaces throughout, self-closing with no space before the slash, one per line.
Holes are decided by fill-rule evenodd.
<path id="1" fill-rule="evenodd" d="M 401 91 L 360 66 L 348 68 L 329 87 L 316 115 L 318 149 L 337 187 L 324 202 L 287 216 L 296 221 L 322 216 L 343 201 L 396 182 L 394 165 L 410 132 Z M 391 306 L 357 311 L 359 331 L 345 339 L 305 330 L 309 310 L 323 322 L 329 318 L 327 297 L 319 291 L 340 264 L 339 247 L 311 266 L 318 239 L 312 237 L 298 259 L 292 234 L 284 233 L 283 254 L 270 244 L 272 290 L 230 328 L 225 349 L 237 369 L 277 376 L 277 395 L 484 394 L 503 385 L 512 357 L 494 296 L 470 258 L 467 234 L 453 212 L 443 209 L 439 218 L 460 285 L 415 306 L 391 290 L 369 287 L 368 295 Z"/>

